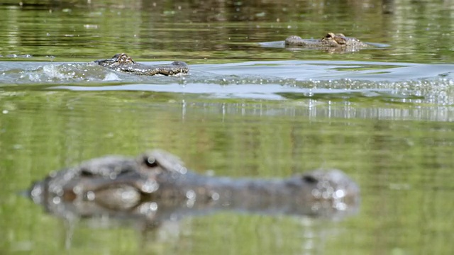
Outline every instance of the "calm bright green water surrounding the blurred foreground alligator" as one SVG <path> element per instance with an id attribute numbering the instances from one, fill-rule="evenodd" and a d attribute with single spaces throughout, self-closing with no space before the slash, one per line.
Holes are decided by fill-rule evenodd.
<path id="1" fill-rule="evenodd" d="M 326 254 L 380 253 L 396 246 L 419 251 L 429 244 L 440 253 L 450 249 L 442 242 L 451 231 L 445 219 L 454 209 L 445 203 L 452 197 L 446 178 L 453 166 L 450 123 L 317 117 L 311 115 L 314 109 L 328 111 L 328 106 L 311 110 L 304 100 L 185 98 L 183 108 L 182 98 L 142 91 L 2 94 L 0 108 L 8 112 L 0 115 L 0 179 L 7 183 L 0 186 L 0 250 L 61 254 L 64 247 L 63 222 L 16 191 L 83 159 L 135 155 L 153 147 L 179 155 L 191 169 L 214 169 L 217 175 L 270 178 L 319 167 L 343 169 L 362 187 L 360 215 L 307 229 L 294 217 L 224 212 L 185 219 L 177 237 L 159 242 L 150 233 L 141 241 L 132 226 L 91 229 L 82 222 L 74 229 L 72 253 L 251 254 L 267 249 L 289 254 L 301 251 L 311 233 Z M 361 106 L 371 112 L 395 109 L 380 102 Z M 333 112 L 343 107 L 329 106 Z"/>

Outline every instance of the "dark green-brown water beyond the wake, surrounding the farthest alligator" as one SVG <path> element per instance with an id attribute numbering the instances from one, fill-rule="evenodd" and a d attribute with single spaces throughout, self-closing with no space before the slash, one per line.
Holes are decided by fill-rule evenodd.
<path id="1" fill-rule="evenodd" d="M 87 61 L 127 52 L 136 60 L 176 59 L 191 64 L 288 59 L 452 62 L 450 40 L 444 40 L 452 18 L 442 5 L 372 2 L 370 6 L 377 6 L 373 11 L 360 1 L 314 5 L 304 1 L 103 0 L 90 4 L 27 0 L 18 6 L 16 0 L 8 0 L 2 2 L 8 8 L 0 8 L 0 53 L 29 54 L 37 57 L 33 60 L 55 56 L 58 61 Z M 420 10 L 421 15 L 409 9 Z M 431 23 L 439 24 L 438 28 L 430 29 L 427 24 Z M 321 38 L 327 32 L 391 46 L 329 54 L 258 45 L 288 35 Z"/>

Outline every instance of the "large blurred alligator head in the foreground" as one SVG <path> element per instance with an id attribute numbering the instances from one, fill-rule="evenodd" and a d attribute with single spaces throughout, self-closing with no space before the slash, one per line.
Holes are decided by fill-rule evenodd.
<path id="1" fill-rule="evenodd" d="M 358 185 L 339 170 L 287 179 L 233 179 L 189 171 L 162 150 L 106 156 L 55 171 L 28 196 L 64 218 L 109 216 L 158 225 L 221 210 L 340 219 L 358 211 Z"/>

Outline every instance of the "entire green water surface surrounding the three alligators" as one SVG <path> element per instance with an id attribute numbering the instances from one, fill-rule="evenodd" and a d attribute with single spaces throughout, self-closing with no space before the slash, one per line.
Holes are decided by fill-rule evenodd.
<path id="1" fill-rule="evenodd" d="M 2 2 L 0 253 L 452 254 L 453 4 L 355 3 Z M 258 45 L 328 31 L 389 46 Z M 117 52 L 191 72 L 88 64 Z M 156 147 L 216 175 L 342 169 L 360 210 L 337 221 L 220 212 L 144 229 L 68 222 L 18 195 L 52 170 Z"/>

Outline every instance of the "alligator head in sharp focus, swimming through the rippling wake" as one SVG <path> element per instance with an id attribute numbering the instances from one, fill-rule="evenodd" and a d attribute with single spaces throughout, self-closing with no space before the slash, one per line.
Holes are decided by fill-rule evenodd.
<path id="1" fill-rule="evenodd" d="M 189 66 L 182 61 L 156 65 L 139 64 L 125 53 L 116 54 L 108 60 L 95 60 L 94 62 L 103 67 L 114 69 L 118 72 L 126 72 L 128 74 L 137 75 L 175 75 L 187 74 L 187 72 L 189 72 Z"/>

